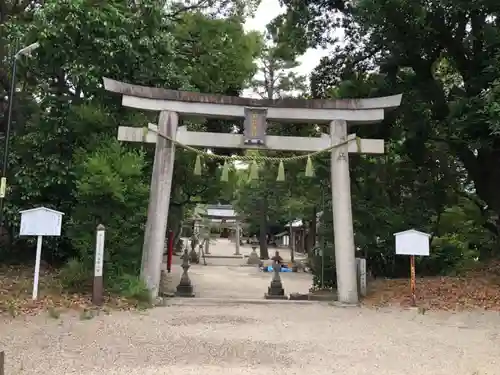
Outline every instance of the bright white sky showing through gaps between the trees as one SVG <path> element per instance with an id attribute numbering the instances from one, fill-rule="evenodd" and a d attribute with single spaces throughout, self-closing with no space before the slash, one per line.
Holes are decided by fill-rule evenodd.
<path id="1" fill-rule="evenodd" d="M 255 17 L 245 22 L 245 30 L 265 31 L 266 25 L 279 14 L 284 13 L 284 11 L 285 9 L 280 7 L 279 0 L 262 0 L 255 13 Z M 320 59 L 327 54 L 328 50 L 311 48 L 297 59 L 301 65 L 294 70 L 298 74 L 309 76 L 311 71 L 318 65 Z M 251 89 L 244 90 L 243 96 L 258 97 Z"/>

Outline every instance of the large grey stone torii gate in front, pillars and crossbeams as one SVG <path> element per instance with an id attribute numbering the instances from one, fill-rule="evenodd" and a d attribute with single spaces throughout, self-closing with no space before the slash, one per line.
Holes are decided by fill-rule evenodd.
<path id="1" fill-rule="evenodd" d="M 337 289 L 340 302 L 359 300 L 348 153 L 383 154 L 384 141 L 361 139 L 348 142 L 348 124 L 369 124 L 384 119 L 385 110 L 397 108 L 401 95 L 370 99 L 306 100 L 248 99 L 197 92 L 144 87 L 104 78 L 104 88 L 122 95 L 126 107 L 160 112 L 158 125 L 122 127 L 118 139 L 126 142 L 156 143 L 148 218 L 144 234 L 141 275 L 151 295 L 158 295 L 161 263 L 172 186 L 175 143 L 194 147 L 252 148 L 314 152 L 331 150 L 332 206 L 335 235 Z M 245 133 L 225 134 L 188 131 L 178 127 L 179 115 L 214 118 L 244 118 Z M 321 137 L 266 135 L 266 120 L 330 124 L 330 134 Z M 158 134 L 163 136 L 158 136 Z M 359 146 L 359 147 L 358 147 Z M 359 148 L 359 149 L 358 149 Z"/>

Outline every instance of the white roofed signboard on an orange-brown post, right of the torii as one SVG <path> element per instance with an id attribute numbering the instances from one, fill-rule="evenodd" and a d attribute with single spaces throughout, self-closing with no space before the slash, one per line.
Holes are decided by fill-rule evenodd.
<path id="1" fill-rule="evenodd" d="M 396 237 L 396 254 L 410 256 L 410 292 L 412 305 L 416 306 L 415 255 L 429 256 L 429 238 L 431 235 L 410 229 L 395 233 L 394 237 Z"/>

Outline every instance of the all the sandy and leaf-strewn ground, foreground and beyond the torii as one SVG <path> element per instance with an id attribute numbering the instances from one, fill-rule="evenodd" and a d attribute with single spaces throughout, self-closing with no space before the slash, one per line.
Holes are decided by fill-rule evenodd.
<path id="1" fill-rule="evenodd" d="M 500 306 L 494 270 L 417 280 L 428 311 L 401 307 L 409 302 L 407 280 L 376 280 L 362 307 L 278 303 L 263 298 L 271 274 L 244 267 L 245 258 L 221 257 L 233 252 L 225 245 L 212 248 L 210 265 L 190 269 L 198 298 L 145 311 L 116 310 L 129 306 L 114 299 L 89 313 L 88 296 L 50 289 L 57 285 L 51 273 L 32 303 L 29 270 L 3 272 L 5 373 L 500 374 L 500 315 L 488 311 Z M 180 271 L 177 259 L 173 285 Z M 281 276 L 287 294 L 311 285 L 306 273 Z M 54 305 L 70 309 L 54 314 Z"/>

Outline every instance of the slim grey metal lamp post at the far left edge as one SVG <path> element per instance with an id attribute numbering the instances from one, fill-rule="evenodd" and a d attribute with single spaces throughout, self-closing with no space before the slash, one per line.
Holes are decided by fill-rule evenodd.
<path id="1" fill-rule="evenodd" d="M 21 48 L 12 58 L 12 73 L 10 78 L 10 95 L 9 95 L 9 110 L 7 112 L 7 129 L 5 131 L 5 143 L 3 146 L 3 164 L 2 164 L 2 177 L 0 179 L 0 227 L 3 225 L 3 204 L 5 198 L 5 191 L 7 189 L 7 164 L 9 156 L 9 141 L 12 123 L 12 106 L 14 103 L 14 93 L 16 86 L 16 72 L 17 72 L 17 59 L 21 56 L 29 56 L 31 52 L 40 47 L 38 42 L 30 44 L 27 47 Z"/>

